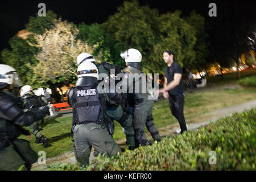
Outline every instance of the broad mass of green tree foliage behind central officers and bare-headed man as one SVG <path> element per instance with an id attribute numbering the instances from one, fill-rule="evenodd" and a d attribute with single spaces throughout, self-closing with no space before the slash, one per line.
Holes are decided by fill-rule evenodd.
<path id="1" fill-rule="evenodd" d="M 196 24 L 195 24 L 196 22 Z M 157 9 L 140 6 L 138 1 L 125 1 L 118 12 L 103 24 L 80 24 L 81 38 L 96 41 L 95 55 L 101 60 L 125 66 L 121 51 L 136 48 L 142 53 L 143 72 L 163 73 L 163 51 L 172 49 L 178 63 L 195 68 L 207 56 L 207 34 L 204 18 L 192 13 L 181 18 L 181 11 L 159 14 Z"/>

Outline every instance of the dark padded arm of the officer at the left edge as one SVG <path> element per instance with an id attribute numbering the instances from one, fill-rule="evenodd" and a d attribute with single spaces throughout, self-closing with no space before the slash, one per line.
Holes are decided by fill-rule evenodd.
<path id="1" fill-rule="evenodd" d="M 19 126 L 29 126 L 35 121 L 42 119 L 48 110 L 47 106 L 40 107 L 36 112 L 27 111 L 23 112 L 22 109 L 9 97 L 3 97 L 0 100 L 0 110 L 5 114 L 10 121 L 13 121 Z"/>

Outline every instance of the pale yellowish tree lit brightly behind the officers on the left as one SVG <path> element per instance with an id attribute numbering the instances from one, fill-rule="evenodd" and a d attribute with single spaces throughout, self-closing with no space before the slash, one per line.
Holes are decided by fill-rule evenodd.
<path id="1" fill-rule="evenodd" d="M 80 39 L 76 39 L 78 29 L 73 23 L 61 19 L 53 21 L 53 27 L 43 35 L 35 34 L 36 44 L 28 42 L 32 47 L 40 48 L 35 55 L 39 60 L 32 69 L 38 80 L 45 84 L 70 83 L 76 80 L 76 57 L 81 52 L 92 53 L 96 46 L 88 46 Z"/>

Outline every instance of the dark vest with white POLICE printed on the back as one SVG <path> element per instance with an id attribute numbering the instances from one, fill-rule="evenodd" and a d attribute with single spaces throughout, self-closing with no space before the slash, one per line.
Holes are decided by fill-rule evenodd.
<path id="1" fill-rule="evenodd" d="M 97 84 L 86 87 L 75 86 L 71 100 L 74 123 L 104 122 L 104 97 L 98 93 Z"/>

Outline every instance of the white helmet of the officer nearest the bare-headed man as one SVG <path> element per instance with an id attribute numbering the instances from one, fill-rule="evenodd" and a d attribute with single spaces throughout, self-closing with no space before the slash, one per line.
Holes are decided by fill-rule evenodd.
<path id="1" fill-rule="evenodd" d="M 120 56 L 126 63 L 141 63 L 142 60 L 141 52 L 134 48 L 121 52 Z"/>

